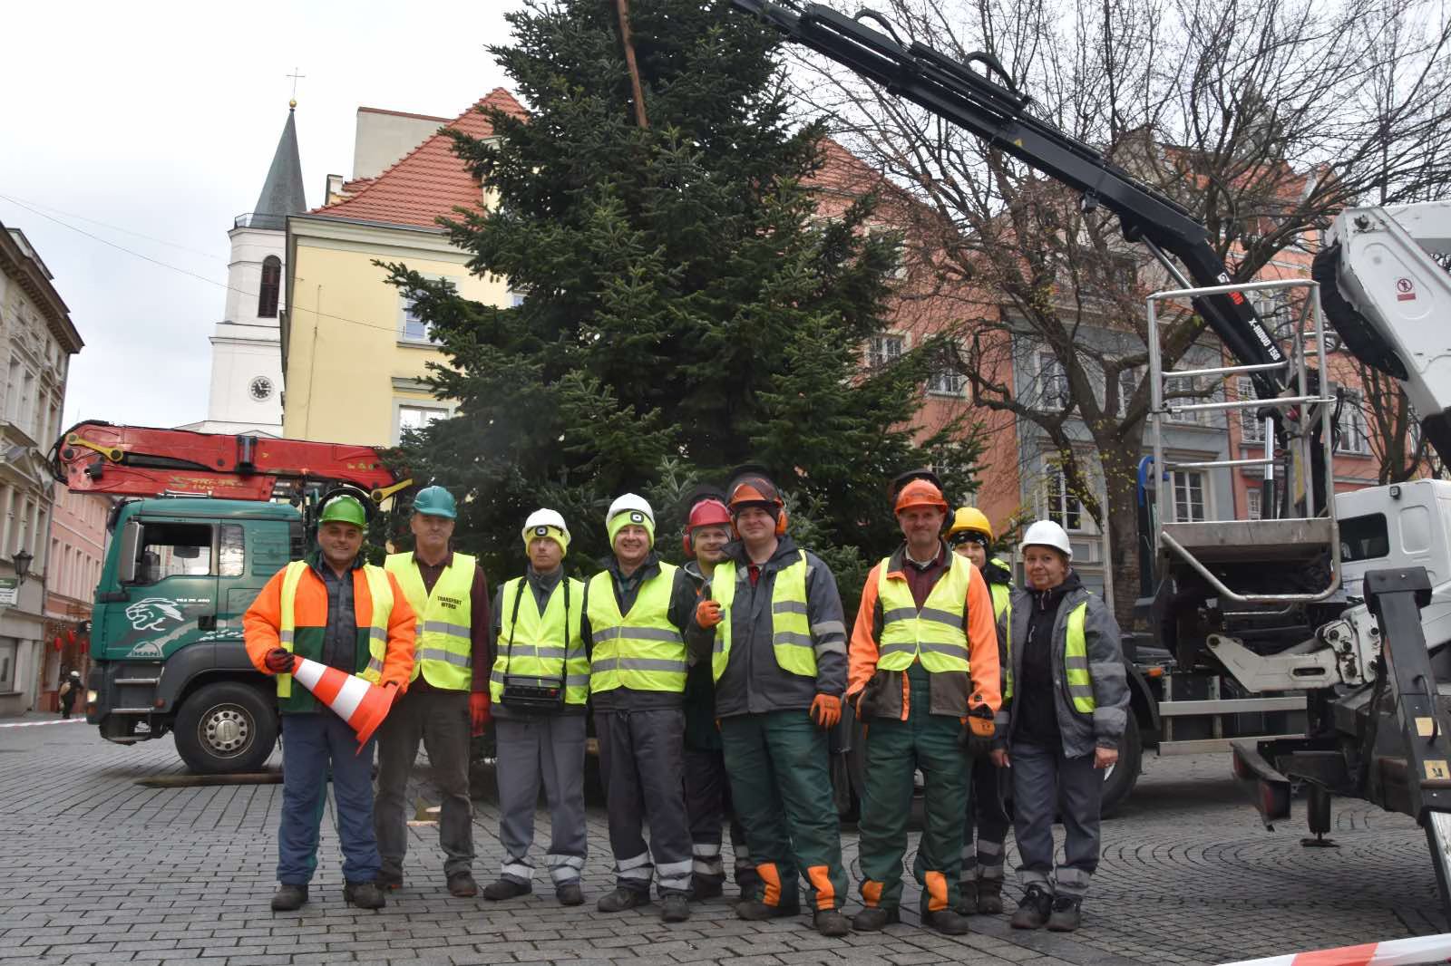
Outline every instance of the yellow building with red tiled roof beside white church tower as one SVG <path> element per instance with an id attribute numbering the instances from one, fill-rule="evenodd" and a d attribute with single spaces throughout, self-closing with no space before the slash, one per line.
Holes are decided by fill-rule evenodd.
<path id="1" fill-rule="evenodd" d="M 482 103 L 522 115 L 502 88 Z M 448 126 L 492 135 L 477 104 Z M 451 138 L 431 133 L 376 177 L 329 178 L 326 205 L 287 219 L 283 437 L 393 445 L 405 429 L 454 415 L 457 403 L 435 399 L 424 381 L 429 363 L 447 358 L 374 263 L 445 278 L 483 305 L 512 305 L 508 281 L 470 274 L 469 252 L 438 225 L 486 203 Z"/>

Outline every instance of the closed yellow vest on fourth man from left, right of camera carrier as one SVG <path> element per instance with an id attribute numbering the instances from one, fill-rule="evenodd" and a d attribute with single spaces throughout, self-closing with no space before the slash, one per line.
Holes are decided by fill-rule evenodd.
<path id="1" fill-rule="evenodd" d="M 614 574 L 602 570 L 591 577 L 591 690 L 685 690 L 685 638 L 669 618 L 676 570 L 662 563 L 660 573 L 640 585 L 628 615 L 620 614 Z"/>

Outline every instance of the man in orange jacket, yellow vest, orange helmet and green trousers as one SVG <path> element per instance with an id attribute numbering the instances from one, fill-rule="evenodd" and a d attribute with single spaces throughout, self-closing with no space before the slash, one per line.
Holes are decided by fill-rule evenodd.
<path id="1" fill-rule="evenodd" d="M 852 928 L 898 921 L 913 773 L 921 769 L 926 822 L 913 867 L 921 922 L 962 934 L 968 917 L 955 907 L 969 793 L 963 746 L 987 754 L 1001 702 L 992 598 L 978 569 L 943 542 L 948 500 L 934 483 L 907 483 L 895 512 L 905 542 L 866 574 L 846 686 L 866 731 L 858 824 L 866 908 Z"/>

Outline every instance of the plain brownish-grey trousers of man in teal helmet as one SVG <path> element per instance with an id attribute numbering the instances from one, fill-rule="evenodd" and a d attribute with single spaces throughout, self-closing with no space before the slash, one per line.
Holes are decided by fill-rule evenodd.
<path id="1" fill-rule="evenodd" d="M 377 798 L 373 828 L 383 860 L 380 878 L 402 880 L 408 853 L 408 776 L 422 741 L 432 764 L 434 785 L 443 796 L 438 844 L 444 875 L 473 869 L 473 804 L 469 801 L 469 692 L 419 688 L 415 682 L 393 702 L 377 730 Z"/>

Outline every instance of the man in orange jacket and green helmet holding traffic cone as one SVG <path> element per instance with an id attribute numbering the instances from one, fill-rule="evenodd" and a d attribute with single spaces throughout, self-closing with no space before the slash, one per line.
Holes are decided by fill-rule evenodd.
<path id="1" fill-rule="evenodd" d="M 318 703 L 290 673 L 299 654 L 374 685 L 408 686 L 414 609 L 390 573 L 358 556 L 366 524 L 357 499 L 328 500 L 318 525 L 318 550 L 273 574 L 242 616 L 247 656 L 257 670 L 277 676 L 281 711 L 274 912 L 308 901 L 329 767 L 342 840 L 342 898 L 364 909 L 385 905 L 374 882 L 380 862 L 373 833 L 373 741 L 360 751 L 348 722 Z"/>

